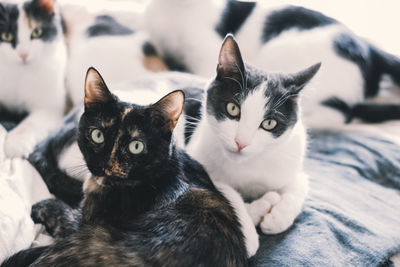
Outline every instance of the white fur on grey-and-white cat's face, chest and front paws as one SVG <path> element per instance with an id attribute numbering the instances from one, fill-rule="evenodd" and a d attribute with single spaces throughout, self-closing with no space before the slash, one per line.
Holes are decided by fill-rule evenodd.
<path id="1" fill-rule="evenodd" d="M 260 129 L 267 101 L 262 88 L 243 102 L 239 121 L 218 122 L 203 114 L 187 150 L 213 181 L 226 183 L 253 201 L 248 211 L 264 233 L 279 233 L 293 224 L 308 191 L 302 170 L 306 132 L 301 119 L 279 138 Z M 247 145 L 240 153 L 238 138 Z"/>

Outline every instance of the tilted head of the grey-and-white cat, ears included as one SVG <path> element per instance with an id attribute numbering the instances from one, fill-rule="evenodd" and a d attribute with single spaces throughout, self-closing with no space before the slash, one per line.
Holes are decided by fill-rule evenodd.
<path id="1" fill-rule="evenodd" d="M 280 144 L 299 122 L 299 96 L 320 63 L 293 74 L 246 65 L 232 35 L 223 41 L 207 90 L 207 118 L 224 151 L 243 159 Z"/>

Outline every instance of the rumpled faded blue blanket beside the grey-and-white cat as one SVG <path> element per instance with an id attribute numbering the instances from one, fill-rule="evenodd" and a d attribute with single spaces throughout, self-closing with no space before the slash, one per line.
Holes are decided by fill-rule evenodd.
<path id="1" fill-rule="evenodd" d="M 387 266 L 400 252 L 400 147 L 311 132 L 310 193 L 285 233 L 261 234 L 255 266 Z"/>

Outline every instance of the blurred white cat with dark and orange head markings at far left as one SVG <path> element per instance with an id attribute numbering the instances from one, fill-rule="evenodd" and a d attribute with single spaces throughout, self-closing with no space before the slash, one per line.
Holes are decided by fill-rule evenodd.
<path id="1" fill-rule="evenodd" d="M 7 135 L 7 156 L 29 155 L 61 122 L 66 57 L 55 1 L 0 1 L 0 108 L 28 114 Z"/>

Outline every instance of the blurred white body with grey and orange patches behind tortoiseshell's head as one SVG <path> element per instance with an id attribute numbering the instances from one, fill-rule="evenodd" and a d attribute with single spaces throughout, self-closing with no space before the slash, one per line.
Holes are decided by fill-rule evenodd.
<path id="1" fill-rule="evenodd" d="M 148 35 L 137 30 L 138 23 L 120 21 L 120 13 L 94 15 L 65 7 L 63 15 L 68 26 L 67 91 L 74 105 L 82 102 L 82 81 L 90 66 L 96 66 L 110 85 L 168 70 Z"/>

